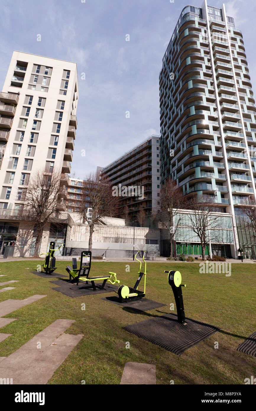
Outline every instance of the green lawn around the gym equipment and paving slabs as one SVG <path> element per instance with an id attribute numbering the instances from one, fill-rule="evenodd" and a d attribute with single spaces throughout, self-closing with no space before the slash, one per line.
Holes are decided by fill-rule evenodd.
<path id="1" fill-rule="evenodd" d="M 12 336 L 0 343 L 0 356 L 9 356 L 22 344 L 56 319 L 74 319 L 67 330 L 72 334 L 84 334 L 78 345 L 55 371 L 50 384 L 119 384 L 127 361 L 156 365 L 157 384 L 243 384 L 245 378 L 256 375 L 256 359 L 235 351 L 244 338 L 256 331 L 254 264 L 233 263 L 230 277 L 225 274 L 200 274 L 198 263 L 148 263 L 146 296 L 163 302 L 165 307 L 137 314 L 101 300 L 114 295 L 97 294 L 70 298 L 52 290 L 57 278 L 42 278 L 31 271 L 42 261 L 16 261 L 0 263 L 0 282 L 20 280 L 9 284 L 16 289 L 0 293 L 0 301 L 8 298 L 24 299 L 34 294 L 47 297 L 33 302 L 7 318 L 18 318 L 0 329 Z M 66 261 L 57 261 L 59 274 L 67 274 Z M 138 263 L 92 262 L 90 274 L 101 275 L 108 271 L 117 273 L 120 284 L 133 286 Z M 166 269 L 180 270 L 187 317 L 210 323 L 221 328 L 200 344 L 188 349 L 181 356 L 144 341 L 122 329 L 151 316 L 161 316 L 170 311 L 174 302 L 171 286 L 167 282 Z M 7 287 L 1 286 L 1 288 Z M 85 311 L 81 304 L 85 303 Z M 176 311 L 174 311 L 176 312 Z M 219 349 L 214 349 L 214 342 Z M 126 349 L 126 342 L 130 349 Z"/>

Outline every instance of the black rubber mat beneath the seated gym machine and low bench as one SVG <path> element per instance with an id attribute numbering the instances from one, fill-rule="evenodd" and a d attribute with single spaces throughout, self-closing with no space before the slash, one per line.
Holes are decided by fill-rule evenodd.
<path id="1" fill-rule="evenodd" d="M 53 288 L 55 291 L 59 291 L 68 297 L 81 297 L 81 296 L 90 296 L 92 294 L 101 294 L 101 293 L 112 293 L 113 291 L 118 290 L 118 286 L 106 283 L 103 290 L 99 287 L 101 283 L 96 283 L 96 291 L 93 291 L 91 284 L 85 284 L 79 282 L 78 285 L 71 283 L 69 279 L 62 279 L 57 281 L 50 281 L 53 284 L 58 285 L 59 287 Z"/>

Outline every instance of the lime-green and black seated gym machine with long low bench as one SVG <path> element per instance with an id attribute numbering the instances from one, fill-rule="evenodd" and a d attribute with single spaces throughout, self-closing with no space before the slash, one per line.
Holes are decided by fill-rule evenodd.
<path id="1" fill-rule="evenodd" d="M 92 288 L 96 291 L 95 281 L 103 280 L 100 289 L 103 290 L 106 282 L 110 282 L 111 284 L 115 284 L 116 282 L 119 284 L 120 281 L 116 279 L 115 272 L 109 272 L 109 275 L 101 275 L 99 277 L 89 277 L 89 272 L 91 268 L 91 259 L 92 253 L 90 251 L 82 251 L 81 252 L 81 261 L 80 261 L 80 268 L 77 268 L 76 258 L 72 258 L 72 268 L 70 266 L 66 267 L 66 271 L 69 273 L 69 281 L 72 283 L 76 283 L 78 285 L 79 281 L 85 282 L 88 284 L 88 281 L 91 282 Z M 113 275 L 113 279 L 111 279 Z"/>

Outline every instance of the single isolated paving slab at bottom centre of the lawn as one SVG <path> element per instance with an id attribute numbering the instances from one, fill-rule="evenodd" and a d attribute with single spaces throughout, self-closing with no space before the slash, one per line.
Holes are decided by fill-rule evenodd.
<path id="1" fill-rule="evenodd" d="M 150 384 L 155 385 L 156 366 L 154 364 L 143 364 L 129 362 L 125 364 L 120 384 Z"/>

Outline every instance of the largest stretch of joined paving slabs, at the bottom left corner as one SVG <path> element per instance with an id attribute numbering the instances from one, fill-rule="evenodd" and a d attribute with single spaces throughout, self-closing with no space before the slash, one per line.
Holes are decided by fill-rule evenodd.
<path id="1" fill-rule="evenodd" d="M 9 357 L 0 358 L 0 378 L 13 384 L 46 384 L 83 334 L 65 334 L 75 320 L 58 319 Z"/>

